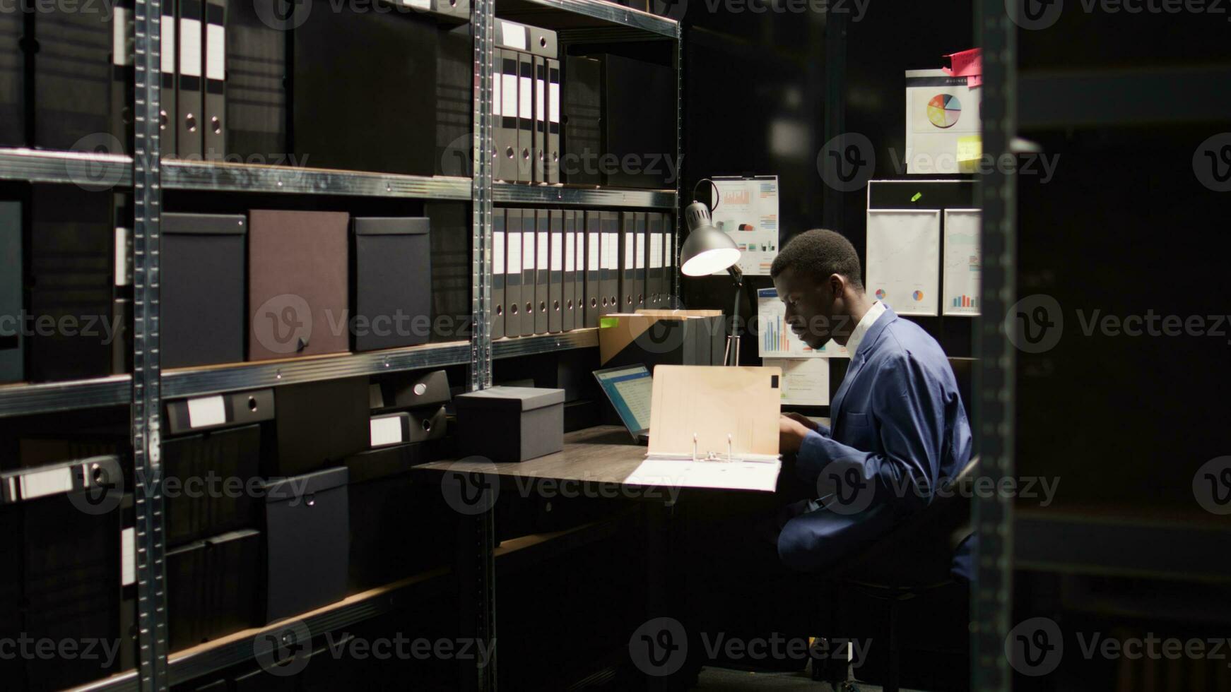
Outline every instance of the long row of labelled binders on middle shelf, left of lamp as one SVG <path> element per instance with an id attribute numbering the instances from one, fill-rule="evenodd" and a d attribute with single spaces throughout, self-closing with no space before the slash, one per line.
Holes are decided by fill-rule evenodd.
<path id="1" fill-rule="evenodd" d="M 670 214 L 512 208 L 492 214 L 492 339 L 598 327 L 603 315 L 670 306 Z"/>

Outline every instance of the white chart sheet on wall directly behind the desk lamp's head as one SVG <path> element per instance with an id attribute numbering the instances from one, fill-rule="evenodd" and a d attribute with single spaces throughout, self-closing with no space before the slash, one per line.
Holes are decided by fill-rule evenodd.
<path id="1" fill-rule="evenodd" d="M 740 248 L 740 270 L 768 277 L 778 256 L 778 176 L 713 179 L 718 188 L 718 205 L 710 214 L 714 227 Z"/>

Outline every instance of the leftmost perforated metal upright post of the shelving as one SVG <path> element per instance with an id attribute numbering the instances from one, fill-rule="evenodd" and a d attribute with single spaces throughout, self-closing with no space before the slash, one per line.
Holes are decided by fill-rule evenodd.
<path id="1" fill-rule="evenodd" d="M 161 0 L 135 0 L 133 136 L 133 471 L 139 687 L 170 687 L 159 439 L 159 102 Z"/>

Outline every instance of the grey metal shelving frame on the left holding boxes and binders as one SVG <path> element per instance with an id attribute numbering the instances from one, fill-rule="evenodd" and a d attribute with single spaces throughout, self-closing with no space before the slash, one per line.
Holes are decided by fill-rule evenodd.
<path id="1" fill-rule="evenodd" d="M 138 585 L 138 667 L 85 685 L 81 690 L 169 690 L 224 667 L 254 660 L 259 637 L 270 628 L 238 633 L 215 645 L 172 655 L 167 639 L 165 594 L 165 540 L 162 513 L 160 412 L 164 398 L 378 375 L 403 370 L 469 364 L 471 390 L 491 386 L 491 363 L 566 349 L 595 348 L 597 329 L 577 329 L 491 342 L 492 270 L 491 210 L 494 203 L 559 204 L 676 209 L 676 189 L 574 188 L 494 183 L 490 161 L 480 152 L 491 144 L 492 25 L 496 0 L 471 0 L 474 27 L 474 176 L 421 177 L 372 172 L 293 168 L 246 163 L 213 163 L 160 159 L 159 107 L 161 57 L 161 0 L 134 0 L 133 57 L 135 65 L 135 123 L 133 155 L 85 151 L 0 149 L 0 181 L 80 184 L 87 189 L 130 188 L 133 194 L 133 371 L 128 375 L 49 383 L 0 386 L 0 418 L 54 413 L 107 406 L 128 406 L 132 414 L 134 471 L 143 479 L 135 492 L 135 556 Z M 570 41 L 675 41 L 677 77 L 682 60 L 678 22 L 604 0 L 501 0 L 501 16 L 567 33 Z M 682 98 L 677 79 L 677 103 Z M 676 155 L 680 155 L 677 111 Z M 91 187 L 92 186 L 92 187 Z M 471 205 L 471 316 L 469 340 L 425 344 L 384 352 L 348 353 L 319 358 L 243 363 L 161 371 L 159 366 L 159 237 L 162 191 L 238 192 L 277 194 L 362 195 L 470 202 Z M 677 251 L 678 251 L 678 234 Z M 678 277 L 675 278 L 678 286 Z M 457 581 L 465 584 L 459 611 L 470 635 L 495 640 L 495 531 L 492 514 L 473 521 L 473 546 L 459 551 Z M 427 576 L 438 576 L 428 574 Z M 423 579 L 420 579 L 423 578 Z M 314 633 L 352 626 L 390 612 L 395 596 L 426 579 L 411 578 L 390 588 L 352 596 L 305 613 Z M 432 581 L 439 581 L 432 579 Z M 400 604 L 399 604 L 400 605 Z M 465 687 L 495 690 L 495 656 L 476 666 Z"/>

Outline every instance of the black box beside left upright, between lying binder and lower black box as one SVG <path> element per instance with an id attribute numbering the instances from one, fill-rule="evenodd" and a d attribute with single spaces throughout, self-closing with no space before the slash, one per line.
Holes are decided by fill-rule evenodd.
<path id="1" fill-rule="evenodd" d="M 259 525 L 252 479 L 260 473 L 261 427 L 245 425 L 162 441 L 166 541 L 178 546 Z"/>

